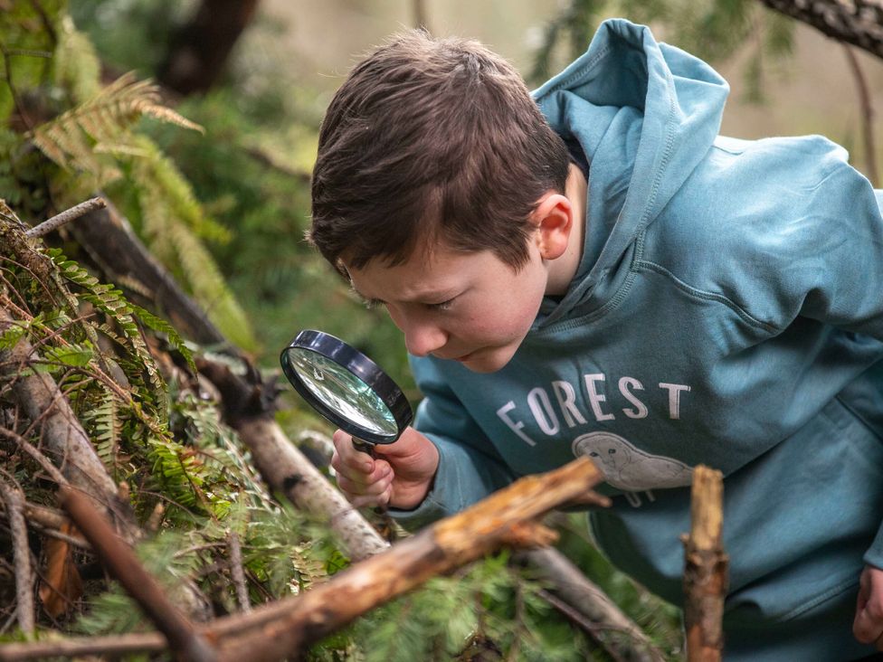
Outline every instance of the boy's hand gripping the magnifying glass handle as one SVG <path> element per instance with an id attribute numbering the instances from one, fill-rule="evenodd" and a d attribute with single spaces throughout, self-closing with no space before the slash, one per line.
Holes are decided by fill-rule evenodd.
<path id="1" fill-rule="evenodd" d="M 439 451 L 420 432 L 407 428 L 394 444 L 377 444 L 376 458 L 353 448 L 343 430 L 334 433 L 331 466 L 337 487 L 349 501 L 362 506 L 419 506 L 432 487 L 439 467 Z"/>

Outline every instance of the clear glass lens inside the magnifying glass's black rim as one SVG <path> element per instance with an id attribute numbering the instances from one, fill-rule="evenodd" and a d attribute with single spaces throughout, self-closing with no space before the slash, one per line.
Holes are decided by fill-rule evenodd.
<path id="1" fill-rule="evenodd" d="M 303 347 L 286 350 L 301 383 L 319 402 L 362 430 L 395 439 L 399 435 L 395 416 L 368 384 L 346 367 Z"/>

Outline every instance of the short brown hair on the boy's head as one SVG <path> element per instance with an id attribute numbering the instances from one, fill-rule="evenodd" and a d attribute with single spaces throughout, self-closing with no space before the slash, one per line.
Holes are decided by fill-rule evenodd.
<path id="1" fill-rule="evenodd" d="M 528 219 L 569 158 L 521 77 L 478 42 L 397 35 L 337 90 L 319 131 L 309 240 L 337 270 L 443 240 L 527 262 Z"/>

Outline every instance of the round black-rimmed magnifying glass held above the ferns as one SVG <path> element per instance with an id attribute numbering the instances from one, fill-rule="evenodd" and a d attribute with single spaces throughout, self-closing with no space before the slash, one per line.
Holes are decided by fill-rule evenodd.
<path id="1" fill-rule="evenodd" d="M 280 363 L 300 396 L 372 457 L 375 444 L 393 443 L 413 419 L 393 378 L 335 336 L 301 331 L 282 350 Z"/>

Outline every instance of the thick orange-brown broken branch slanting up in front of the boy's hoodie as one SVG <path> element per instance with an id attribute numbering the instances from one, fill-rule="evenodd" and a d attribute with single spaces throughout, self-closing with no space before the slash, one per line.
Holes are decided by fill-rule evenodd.
<path id="1" fill-rule="evenodd" d="M 258 627 L 250 636 L 224 646 L 220 659 L 296 658 L 309 644 L 434 575 L 451 572 L 502 545 L 548 544 L 555 533 L 536 524 L 536 517 L 583 495 L 601 480 L 598 469 L 584 458 L 540 476 L 521 478 L 298 598 L 240 617 L 241 622 Z"/>

